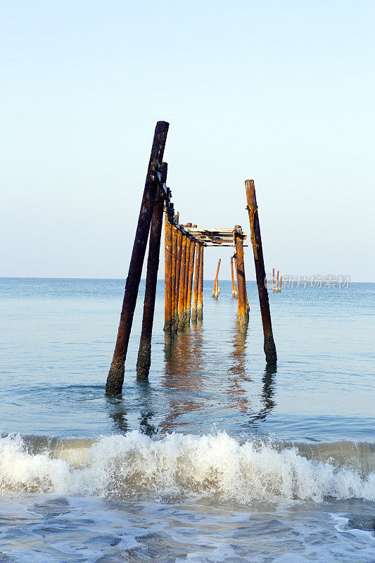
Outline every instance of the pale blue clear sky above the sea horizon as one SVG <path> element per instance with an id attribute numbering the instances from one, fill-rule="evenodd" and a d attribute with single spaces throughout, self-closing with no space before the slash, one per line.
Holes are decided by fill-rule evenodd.
<path id="1" fill-rule="evenodd" d="M 0 275 L 126 277 L 165 120 L 180 222 L 248 234 L 253 178 L 268 272 L 375 281 L 374 17 L 366 0 L 0 1 Z M 230 255 L 208 248 L 205 277 L 222 258 L 230 279 Z"/>

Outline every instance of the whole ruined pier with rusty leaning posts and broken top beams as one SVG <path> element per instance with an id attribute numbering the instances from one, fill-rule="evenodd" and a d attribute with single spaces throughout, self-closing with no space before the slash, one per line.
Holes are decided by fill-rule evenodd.
<path id="1" fill-rule="evenodd" d="M 250 308 L 243 255 L 243 248 L 246 246 L 246 234 L 243 234 L 242 227 L 239 224 L 236 224 L 233 228 L 201 228 L 191 222 L 184 225 L 179 223 L 179 213 L 175 213 L 174 203 L 171 201 L 172 191 L 167 187 L 167 163 L 163 162 L 168 128 L 169 124 L 165 121 L 158 122 L 155 127 L 141 210 L 125 284 L 117 341 L 106 382 L 106 393 L 108 394 L 122 392 L 129 336 L 148 240 L 146 290 L 136 374 L 139 378 L 146 378 L 150 371 L 151 338 L 163 217 L 165 224 L 164 334 L 166 348 L 172 349 L 174 338 L 178 338 L 178 331 L 184 331 L 190 322 L 203 319 L 203 255 L 204 249 L 208 247 L 231 246 L 234 248 L 234 254 L 231 256 L 232 297 L 238 299 L 237 323 L 239 331 L 246 332 L 248 327 Z M 246 197 L 250 220 L 250 240 L 253 246 L 265 338 L 266 361 L 267 364 L 274 364 L 277 361 L 277 355 L 272 334 L 267 284 L 265 284 L 265 265 L 253 180 L 246 180 Z M 221 259 L 217 265 L 212 291 L 212 297 L 215 299 L 220 293 L 218 285 L 220 262 Z M 236 282 L 234 281 L 234 272 L 236 273 Z"/>

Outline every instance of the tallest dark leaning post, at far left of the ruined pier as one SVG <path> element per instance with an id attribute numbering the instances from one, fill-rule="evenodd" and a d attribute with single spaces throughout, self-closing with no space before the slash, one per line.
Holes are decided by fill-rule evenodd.
<path id="1" fill-rule="evenodd" d="M 132 258 L 130 259 L 129 272 L 125 284 L 124 301 L 122 303 L 115 352 L 113 353 L 113 360 L 110 365 L 106 382 L 106 393 L 108 394 L 121 393 L 122 384 L 124 383 L 127 347 L 129 345 L 130 331 L 132 330 L 139 281 L 141 280 L 142 267 L 144 265 L 144 255 L 146 253 L 148 233 L 150 232 L 153 206 L 155 203 L 156 191 L 158 190 L 158 179 L 156 175 L 158 173 L 158 167 L 161 165 L 163 160 L 168 127 L 169 123 L 165 121 L 158 121 L 155 127 L 151 157 L 150 162 L 148 163 L 146 184 L 144 187 L 144 195 L 136 227 Z"/>

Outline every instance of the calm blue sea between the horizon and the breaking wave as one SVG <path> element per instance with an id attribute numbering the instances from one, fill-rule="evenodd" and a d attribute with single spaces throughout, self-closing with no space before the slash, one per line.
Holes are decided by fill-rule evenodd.
<path id="1" fill-rule="evenodd" d="M 1 431 L 86 438 L 225 430 L 244 438 L 373 440 L 372 341 L 364 327 L 374 285 L 270 294 L 277 373 L 265 366 L 256 284 L 248 284 L 246 335 L 236 330 L 231 282 L 221 285 L 216 301 L 212 284 L 205 284 L 203 324 L 177 334 L 165 350 L 164 286 L 158 284 L 150 377 L 136 380 L 137 315 L 123 393 L 108 398 L 104 384 L 123 281 L 6 280 Z"/>

